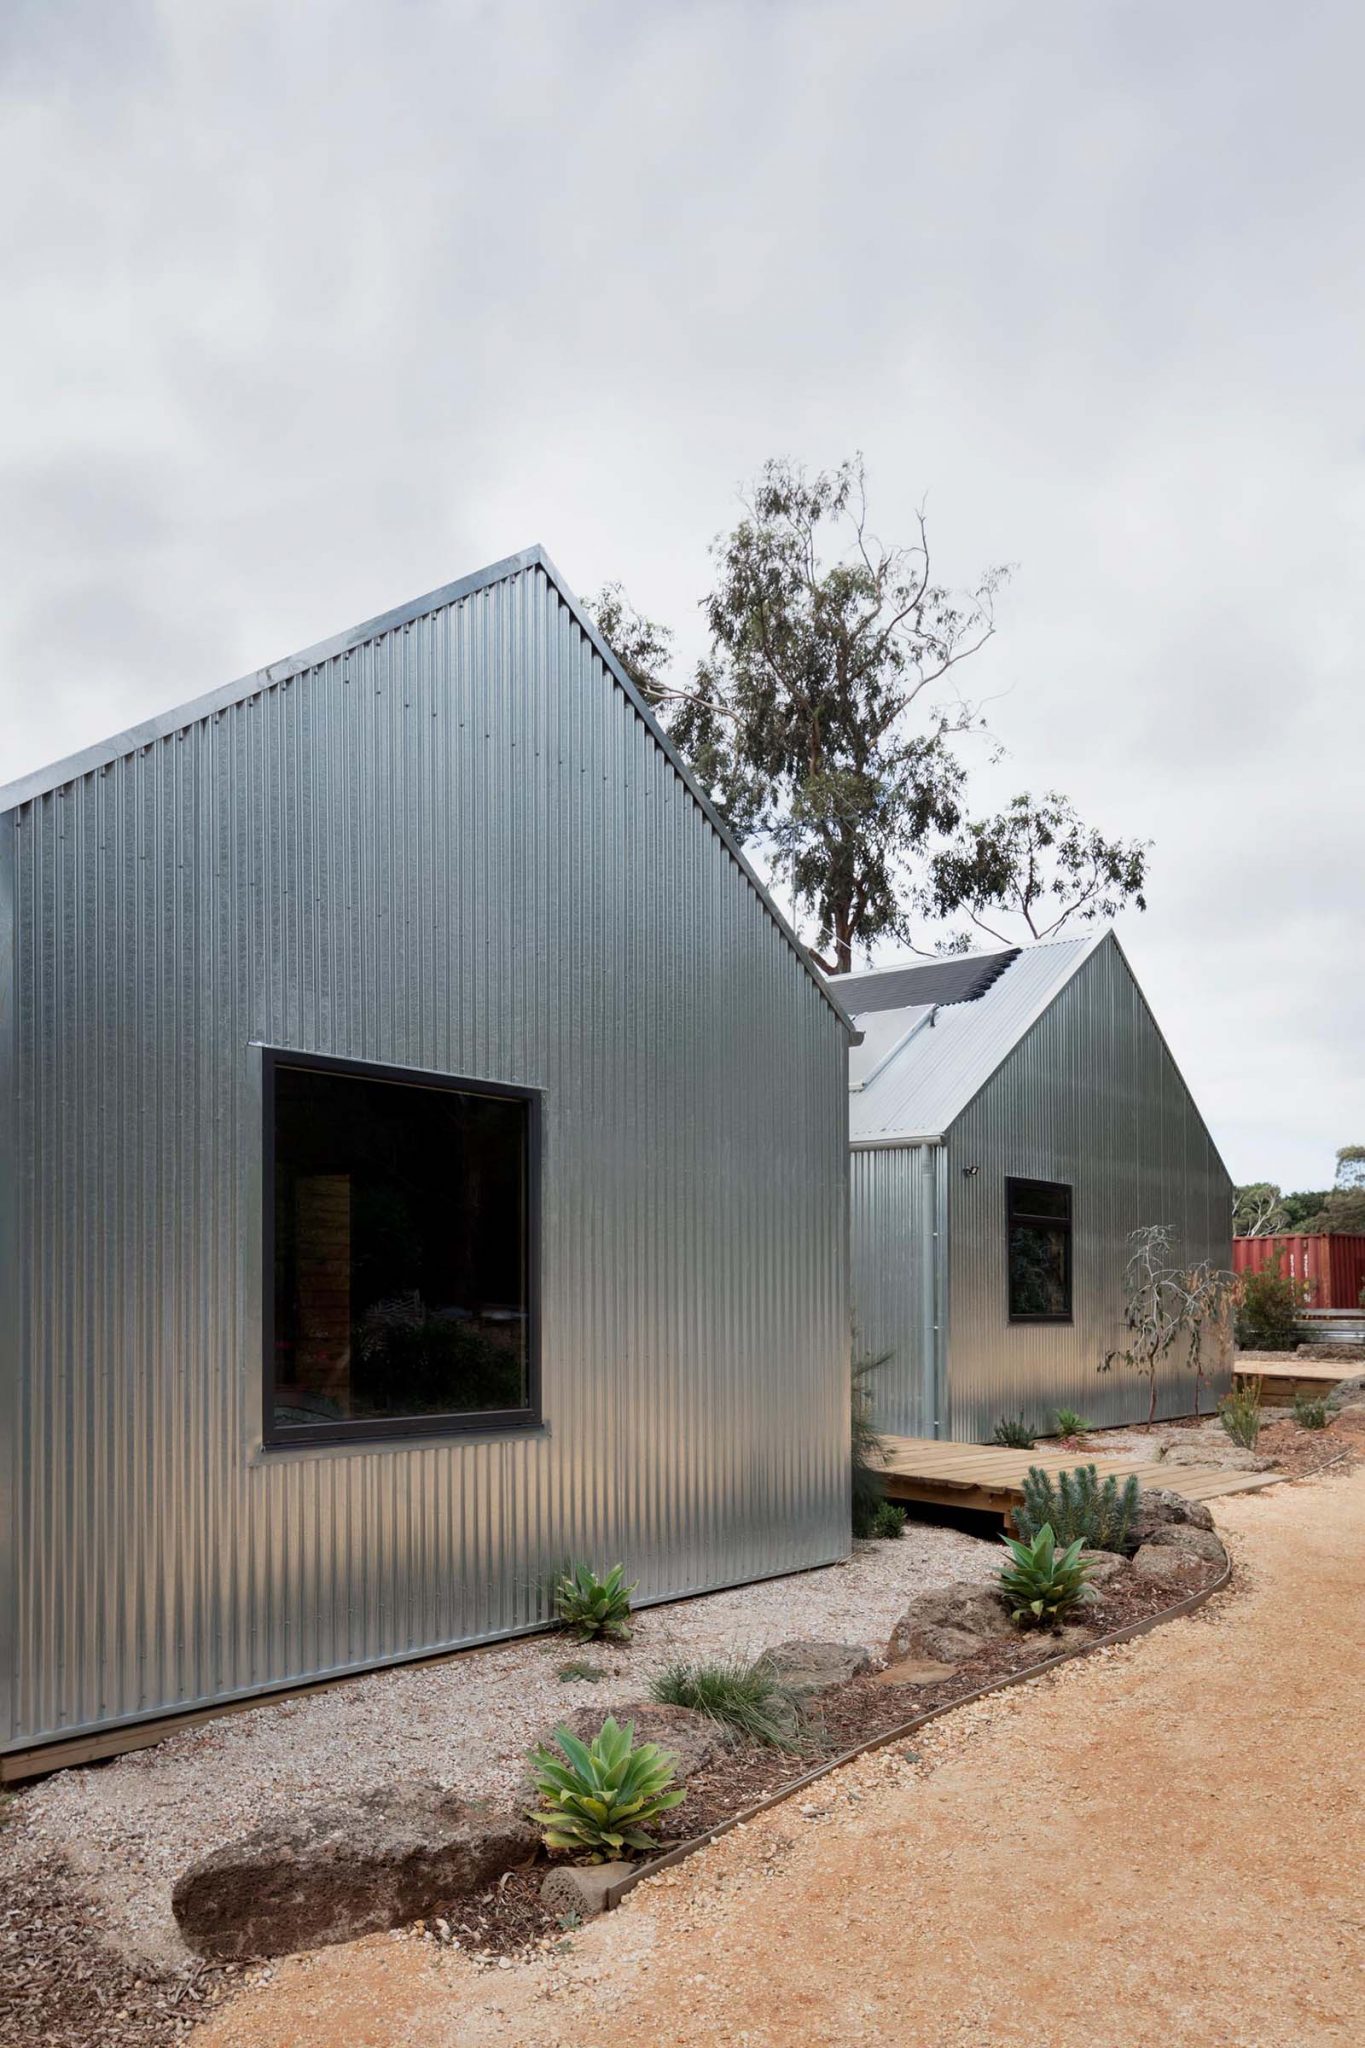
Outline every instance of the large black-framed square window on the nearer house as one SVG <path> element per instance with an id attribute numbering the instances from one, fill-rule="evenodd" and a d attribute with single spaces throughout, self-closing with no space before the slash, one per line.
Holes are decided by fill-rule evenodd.
<path id="1" fill-rule="evenodd" d="M 268 1444 L 538 1419 L 532 1090 L 264 1053 Z"/>

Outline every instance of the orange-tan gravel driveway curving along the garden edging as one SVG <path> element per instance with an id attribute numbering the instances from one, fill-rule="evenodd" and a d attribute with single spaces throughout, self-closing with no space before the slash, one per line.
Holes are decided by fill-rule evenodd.
<path id="1" fill-rule="evenodd" d="M 567 1956 L 377 1935 L 194 2048 L 1365 2040 L 1365 1468 L 1216 1513 L 1236 1595 L 849 1765 Z"/>

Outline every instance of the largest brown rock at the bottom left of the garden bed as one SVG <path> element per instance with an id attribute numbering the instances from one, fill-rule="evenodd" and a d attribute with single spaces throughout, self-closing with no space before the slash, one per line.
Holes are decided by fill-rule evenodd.
<path id="1" fill-rule="evenodd" d="M 536 1843 L 520 1815 L 417 1782 L 268 1823 L 192 1864 L 170 1903 L 201 1956 L 287 1956 L 479 1892 Z"/>

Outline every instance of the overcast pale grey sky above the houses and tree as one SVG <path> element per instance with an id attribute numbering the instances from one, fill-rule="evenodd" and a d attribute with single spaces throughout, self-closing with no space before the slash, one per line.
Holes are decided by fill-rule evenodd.
<path id="1" fill-rule="evenodd" d="M 1365 1141 L 1359 0 L 8 0 L 0 782 L 542 541 L 700 647 L 767 455 L 1017 563 L 997 793 L 1232 1174 Z M 1003 778 L 1003 780 L 999 780 Z"/>

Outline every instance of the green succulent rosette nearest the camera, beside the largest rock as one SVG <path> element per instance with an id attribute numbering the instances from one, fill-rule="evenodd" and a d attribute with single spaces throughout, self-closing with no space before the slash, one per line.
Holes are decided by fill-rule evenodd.
<path id="1" fill-rule="evenodd" d="M 657 1847 L 645 1829 L 688 1796 L 673 1786 L 677 1757 L 657 1743 L 636 1747 L 634 1722 L 620 1729 L 610 1714 L 591 1743 L 567 1729 L 557 1729 L 555 1741 L 561 1757 L 536 1749 L 530 1759 L 542 1804 L 528 1817 L 546 1849 L 579 1849 L 589 1864 L 604 1864 L 622 1849 Z"/>

